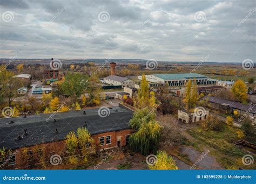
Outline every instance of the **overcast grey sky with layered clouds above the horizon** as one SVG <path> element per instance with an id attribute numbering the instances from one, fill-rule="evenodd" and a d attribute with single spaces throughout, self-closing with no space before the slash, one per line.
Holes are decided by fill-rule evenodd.
<path id="1" fill-rule="evenodd" d="M 255 62 L 255 2 L 1 0 L 0 58 Z"/>

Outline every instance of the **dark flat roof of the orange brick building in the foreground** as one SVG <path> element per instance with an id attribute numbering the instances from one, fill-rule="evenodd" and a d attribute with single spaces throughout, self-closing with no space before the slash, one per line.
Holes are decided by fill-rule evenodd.
<path id="1" fill-rule="evenodd" d="M 109 116 L 100 117 L 97 109 L 58 112 L 48 122 L 46 119 L 52 114 L 33 115 L 24 118 L 0 118 L 0 147 L 10 149 L 32 146 L 51 141 L 63 140 L 70 131 L 84 127 L 85 122 L 91 135 L 98 133 L 130 129 L 129 121 L 132 111 L 122 107 L 109 108 Z M 116 111 L 117 110 L 117 111 Z M 56 122 L 54 122 L 56 119 Z M 14 123 L 9 123 L 13 121 Z M 27 129 L 28 135 L 24 135 Z M 56 129 L 58 133 L 55 134 Z M 23 139 L 16 140 L 17 136 Z"/>

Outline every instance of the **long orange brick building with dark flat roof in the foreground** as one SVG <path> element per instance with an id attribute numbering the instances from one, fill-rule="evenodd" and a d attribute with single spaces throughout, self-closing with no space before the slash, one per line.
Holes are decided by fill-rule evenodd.
<path id="1" fill-rule="evenodd" d="M 40 114 L 28 117 L 0 119 L 0 148 L 6 147 L 11 154 L 1 157 L 1 168 L 19 168 L 24 165 L 23 148 L 26 148 L 26 165 L 37 164 L 35 150 L 46 150 L 49 155 L 65 157 L 65 137 L 70 131 L 85 127 L 95 139 L 96 150 L 129 144 L 132 111 L 123 107 L 106 109 L 106 117 L 99 116 L 100 109 Z M 30 155 L 33 160 L 29 159 Z M 7 160 L 7 162 L 6 162 Z M 4 167 L 2 167 L 4 166 Z"/>

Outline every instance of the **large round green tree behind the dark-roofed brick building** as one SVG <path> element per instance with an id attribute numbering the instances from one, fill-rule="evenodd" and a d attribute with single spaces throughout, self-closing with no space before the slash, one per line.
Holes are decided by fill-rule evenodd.
<path id="1" fill-rule="evenodd" d="M 64 82 L 60 84 L 60 89 L 63 91 L 64 95 L 68 95 L 77 101 L 77 98 L 83 94 L 87 87 L 87 80 L 88 77 L 86 75 L 70 73 L 65 76 Z"/>

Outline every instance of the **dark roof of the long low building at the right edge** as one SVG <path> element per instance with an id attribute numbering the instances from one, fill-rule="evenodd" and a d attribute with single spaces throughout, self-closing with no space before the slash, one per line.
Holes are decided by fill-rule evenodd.
<path id="1" fill-rule="evenodd" d="M 218 98 L 218 97 L 215 97 L 215 96 L 204 96 L 203 99 L 206 100 L 206 98 L 208 98 L 208 100 L 210 102 L 213 102 L 213 103 L 218 103 L 218 104 L 228 104 L 230 105 L 230 107 L 232 108 L 235 108 L 235 109 L 240 109 L 240 110 L 243 110 L 243 111 L 249 111 L 253 114 L 256 113 L 256 104 L 252 104 L 252 106 L 250 105 L 245 105 L 245 104 L 242 104 L 240 102 L 234 102 L 234 101 L 230 101 L 230 100 L 225 100 L 223 98 Z M 255 107 L 254 107 L 255 106 Z M 250 109 L 252 108 L 252 109 Z"/>

